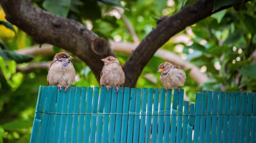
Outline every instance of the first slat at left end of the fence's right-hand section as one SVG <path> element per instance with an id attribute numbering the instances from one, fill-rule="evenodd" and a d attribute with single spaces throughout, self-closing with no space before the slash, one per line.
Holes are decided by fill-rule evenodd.
<path id="1" fill-rule="evenodd" d="M 201 114 L 201 93 L 196 93 L 195 96 L 195 124 L 194 124 L 194 143 L 198 143 L 199 127 L 200 127 L 200 114 Z"/>

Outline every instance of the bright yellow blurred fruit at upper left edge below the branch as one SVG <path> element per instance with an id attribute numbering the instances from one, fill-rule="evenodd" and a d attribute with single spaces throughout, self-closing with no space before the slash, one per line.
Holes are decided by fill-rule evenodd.
<path id="1" fill-rule="evenodd" d="M 5 13 L 3 9 L 0 9 L 0 21 L 7 21 L 5 18 Z M 13 25 L 15 31 L 18 31 L 18 27 Z M 10 42 L 14 39 L 15 32 L 4 25 L 0 25 L 0 39 L 4 42 Z"/>

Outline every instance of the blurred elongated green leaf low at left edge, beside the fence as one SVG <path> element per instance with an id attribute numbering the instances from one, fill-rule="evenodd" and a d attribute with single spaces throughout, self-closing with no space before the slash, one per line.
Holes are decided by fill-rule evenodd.
<path id="1" fill-rule="evenodd" d="M 2 128 L 4 130 L 14 131 L 14 130 L 26 129 L 26 128 L 32 127 L 32 125 L 33 123 L 31 121 L 15 120 L 2 125 Z"/>

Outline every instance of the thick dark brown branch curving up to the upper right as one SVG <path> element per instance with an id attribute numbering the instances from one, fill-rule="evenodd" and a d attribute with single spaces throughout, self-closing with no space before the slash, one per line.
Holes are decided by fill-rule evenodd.
<path id="1" fill-rule="evenodd" d="M 228 8 L 230 6 L 225 6 Z M 220 11 L 220 8 L 216 11 Z M 166 17 L 141 41 L 124 65 L 126 74 L 125 86 L 135 87 L 142 70 L 154 53 L 178 32 L 208 16 L 213 12 L 213 0 L 198 0 L 184 6 L 171 17 Z M 136 67 L 136 70 L 134 70 Z"/>

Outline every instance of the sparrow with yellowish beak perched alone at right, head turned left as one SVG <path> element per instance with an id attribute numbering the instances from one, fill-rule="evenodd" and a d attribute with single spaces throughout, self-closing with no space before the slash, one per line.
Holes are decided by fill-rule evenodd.
<path id="1" fill-rule="evenodd" d="M 166 89 L 177 88 L 180 92 L 180 86 L 183 86 L 186 81 L 186 74 L 178 65 L 173 65 L 169 62 L 161 63 L 158 71 L 161 72 L 160 81 Z"/>

